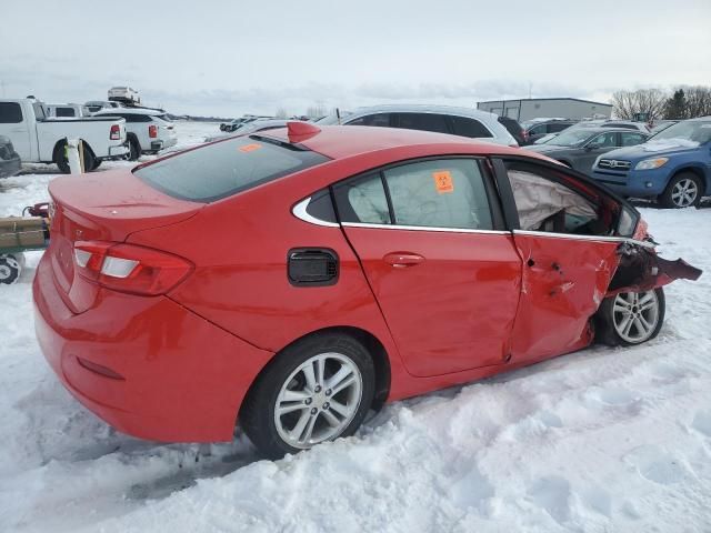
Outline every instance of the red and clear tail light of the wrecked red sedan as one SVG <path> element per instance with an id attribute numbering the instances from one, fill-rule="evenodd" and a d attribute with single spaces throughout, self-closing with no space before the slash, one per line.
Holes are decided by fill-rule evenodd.
<path id="1" fill-rule="evenodd" d="M 77 271 L 119 292 L 154 296 L 183 281 L 193 265 L 178 255 L 134 244 L 77 241 Z"/>

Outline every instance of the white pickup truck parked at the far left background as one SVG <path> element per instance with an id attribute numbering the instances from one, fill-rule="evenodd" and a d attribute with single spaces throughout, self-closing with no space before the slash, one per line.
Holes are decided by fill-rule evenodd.
<path id="1" fill-rule="evenodd" d="M 23 163 L 57 163 L 69 172 L 67 139 L 81 139 L 84 169 L 102 160 L 123 159 L 129 152 L 126 120 L 116 117 L 48 119 L 44 105 L 31 98 L 0 99 L 0 135 L 12 141 Z"/>

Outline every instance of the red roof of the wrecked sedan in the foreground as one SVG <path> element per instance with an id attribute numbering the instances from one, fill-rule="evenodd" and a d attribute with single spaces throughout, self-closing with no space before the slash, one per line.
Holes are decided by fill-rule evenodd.
<path id="1" fill-rule="evenodd" d="M 461 147 L 467 154 L 521 154 L 520 149 L 509 148 L 493 142 L 478 141 L 465 137 L 434 133 L 422 130 L 407 130 L 401 128 L 372 128 L 369 125 L 318 125 L 319 132 L 300 141 L 309 150 L 319 152 L 331 159 L 344 159 L 368 152 L 377 152 L 394 148 L 412 145 L 445 144 Z M 278 139 L 289 142 L 288 130 L 279 128 L 257 133 L 260 137 Z M 543 158 L 545 159 L 545 158 Z"/>

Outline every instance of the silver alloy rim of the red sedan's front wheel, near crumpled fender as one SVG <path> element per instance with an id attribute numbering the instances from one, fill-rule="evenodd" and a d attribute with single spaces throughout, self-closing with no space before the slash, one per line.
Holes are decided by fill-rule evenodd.
<path id="1" fill-rule="evenodd" d="M 612 313 L 620 338 L 639 344 L 654 334 L 659 322 L 659 299 L 654 291 L 623 292 L 615 296 Z"/>

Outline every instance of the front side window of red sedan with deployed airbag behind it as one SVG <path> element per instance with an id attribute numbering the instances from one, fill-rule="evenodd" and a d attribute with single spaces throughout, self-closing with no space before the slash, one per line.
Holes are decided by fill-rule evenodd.
<path id="1" fill-rule="evenodd" d="M 554 179 L 551 171 L 517 162 L 507 163 L 507 171 L 522 230 L 580 235 L 612 233 L 613 217 L 601 217 L 595 203 Z"/>

